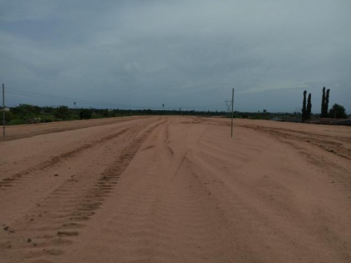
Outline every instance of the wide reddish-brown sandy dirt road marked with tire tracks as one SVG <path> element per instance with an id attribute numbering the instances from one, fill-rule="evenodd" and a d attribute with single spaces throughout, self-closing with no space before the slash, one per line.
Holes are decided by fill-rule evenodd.
<path id="1" fill-rule="evenodd" d="M 350 128 L 95 124 L 1 142 L 0 262 L 351 262 Z"/>

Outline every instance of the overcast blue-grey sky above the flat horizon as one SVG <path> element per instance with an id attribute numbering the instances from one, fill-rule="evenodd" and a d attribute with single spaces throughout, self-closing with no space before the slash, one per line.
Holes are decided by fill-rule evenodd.
<path id="1" fill-rule="evenodd" d="M 351 114 L 349 0 L 0 0 L 6 105 Z"/>

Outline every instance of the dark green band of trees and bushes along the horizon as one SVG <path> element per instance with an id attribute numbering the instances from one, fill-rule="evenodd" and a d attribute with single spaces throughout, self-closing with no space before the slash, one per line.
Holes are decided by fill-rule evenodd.
<path id="1" fill-rule="evenodd" d="M 324 88 L 325 90 L 325 88 Z M 324 95 L 325 102 L 329 102 L 329 90 Z M 267 112 L 263 109 L 258 112 L 234 112 L 234 118 L 237 119 L 260 119 L 274 121 L 301 122 L 301 120 L 319 119 L 319 114 L 312 114 L 311 94 L 303 93 L 303 110 L 301 112 Z M 328 98 L 328 99 L 327 99 Z M 20 104 L 11 107 L 10 112 L 5 112 L 6 125 L 21 125 L 32 123 L 49 123 L 52 121 L 74 121 L 79 119 L 100 119 L 120 116 L 153 116 L 153 115 L 182 115 L 182 116 L 220 116 L 230 118 L 231 114 L 224 111 L 194 111 L 194 110 L 153 110 L 153 109 L 94 109 L 94 108 L 77 108 L 72 109 L 67 106 L 59 107 L 39 107 L 30 104 Z M 345 118 L 345 108 L 339 104 L 334 104 L 330 109 L 331 118 Z"/>

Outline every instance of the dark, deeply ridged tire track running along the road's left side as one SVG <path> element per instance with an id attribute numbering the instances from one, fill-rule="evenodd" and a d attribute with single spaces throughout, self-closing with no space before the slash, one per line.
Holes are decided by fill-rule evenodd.
<path id="1" fill-rule="evenodd" d="M 121 149 L 116 161 L 98 179 L 86 181 L 84 185 L 77 184 L 74 179 L 62 184 L 46 201 L 34 208 L 30 216 L 13 227 L 7 227 L 8 231 L 0 238 L 0 248 L 7 248 L 10 254 L 25 250 L 23 257 L 32 262 L 51 262 L 52 256 L 62 255 L 65 245 L 74 243 L 74 238 L 79 236 L 79 229 L 85 227 L 95 211 L 114 191 L 119 177 L 152 130 L 159 125 L 161 123 L 142 133 L 137 132 L 126 147 Z"/>

